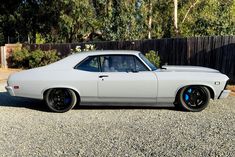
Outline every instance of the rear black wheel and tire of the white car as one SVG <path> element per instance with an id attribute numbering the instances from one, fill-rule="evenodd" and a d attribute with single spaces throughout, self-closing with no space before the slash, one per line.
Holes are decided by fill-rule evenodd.
<path id="1" fill-rule="evenodd" d="M 48 108 L 57 113 L 67 112 L 77 103 L 77 97 L 73 90 L 66 88 L 49 89 L 45 94 Z"/>

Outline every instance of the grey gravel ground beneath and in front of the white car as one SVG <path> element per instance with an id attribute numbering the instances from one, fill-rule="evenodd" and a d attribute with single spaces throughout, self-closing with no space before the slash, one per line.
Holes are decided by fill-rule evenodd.
<path id="1" fill-rule="evenodd" d="M 0 156 L 233 156 L 235 97 L 202 112 L 76 107 L 47 112 L 0 85 Z"/>

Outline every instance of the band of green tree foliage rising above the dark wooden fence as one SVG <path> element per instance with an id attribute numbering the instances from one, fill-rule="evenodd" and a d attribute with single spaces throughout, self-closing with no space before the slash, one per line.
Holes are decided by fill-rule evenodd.
<path id="1" fill-rule="evenodd" d="M 32 43 L 142 40 L 150 32 L 169 38 L 175 36 L 173 10 L 173 0 L 3 1 L 0 44 L 8 37 Z M 234 35 L 234 25 L 235 1 L 178 0 L 182 37 Z"/>

